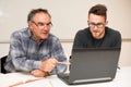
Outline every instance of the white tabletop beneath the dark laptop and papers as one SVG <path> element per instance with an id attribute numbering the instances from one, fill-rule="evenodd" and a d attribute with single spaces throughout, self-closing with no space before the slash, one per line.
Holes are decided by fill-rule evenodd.
<path id="1" fill-rule="evenodd" d="M 14 83 L 13 80 L 19 79 L 17 82 L 20 82 L 26 78 L 35 78 L 35 77 L 22 73 L 0 75 L 0 87 L 8 87 L 9 85 Z M 35 80 L 32 83 L 19 85 L 16 87 L 131 87 L 131 66 L 121 67 L 120 70 L 117 70 L 116 78 L 112 82 L 107 82 L 107 83 L 69 86 L 64 84 L 61 79 L 59 79 L 56 75 L 52 75 L 40 80 Z"/>

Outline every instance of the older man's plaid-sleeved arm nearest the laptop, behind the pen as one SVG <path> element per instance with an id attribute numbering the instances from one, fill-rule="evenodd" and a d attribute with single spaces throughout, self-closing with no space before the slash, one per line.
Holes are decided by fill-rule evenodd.
<path id="1" fill-rule="evenodd" d="M 59 41 L 59 39 L 53 40 L 52 42 L 52 49 L 51 49 L 51 58 L 57 59 L 58 62 L 64 62 L 67 61 L 67 58 L 64 55 L 62 46 Z M 49 74 L 58 74 L 62 73 L 67 70 L 66 64 L 56 64 L 55 69 Z"/>

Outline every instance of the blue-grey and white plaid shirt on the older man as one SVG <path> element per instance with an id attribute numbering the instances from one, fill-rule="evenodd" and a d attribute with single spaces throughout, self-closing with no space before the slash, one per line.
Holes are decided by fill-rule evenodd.
<path id="1" fill-rule="evenodd" d="M 50 34 L 38 45 L 27 27 L 12 34 L 10 52 L 4 67 L 9 72 L 31 72 L 39 69 L 40 62 L 49 58 L 55 58 L 60 62 L 67 61 L 59 39 Z M 66 69 L 67 65 L 57 64 L 50 74 L 64 72 Z"/>

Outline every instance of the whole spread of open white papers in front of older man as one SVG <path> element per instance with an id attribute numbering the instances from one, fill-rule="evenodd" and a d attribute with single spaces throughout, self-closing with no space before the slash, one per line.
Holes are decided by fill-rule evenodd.
<path id="1" fill-rule="evenodd" d="M 0 87 L 55 87 L 52 78 L 34 77 L 28 73 L 9 73 L 0 76 Z"/>

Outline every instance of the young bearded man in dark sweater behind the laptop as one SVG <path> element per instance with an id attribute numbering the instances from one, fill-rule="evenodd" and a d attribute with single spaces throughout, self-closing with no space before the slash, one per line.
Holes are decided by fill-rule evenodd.
<path id="1" fill-rule="evenodd" d="M 107 27 L 107 8 L 96 4 L 88 11 L 88 27 L 76 33 L 73 48 L 121 47 L 121 35 Z"/>

